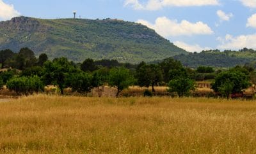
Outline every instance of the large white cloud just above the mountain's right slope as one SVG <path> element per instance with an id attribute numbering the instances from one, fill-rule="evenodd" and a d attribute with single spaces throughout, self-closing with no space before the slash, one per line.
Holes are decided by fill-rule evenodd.
<path id="1" fill-rule="evenodd" d="M 170 20 L 166 17 L 157 18 L 155 24 L 151 24 L 146 20 L 138 20 L 137 22 L 154 29 L 163 37 L 213 34 L 211 28 L 203 22 L 191 23 L 187 20 L 182 20 L 178 23 L 177 20 Z"/>

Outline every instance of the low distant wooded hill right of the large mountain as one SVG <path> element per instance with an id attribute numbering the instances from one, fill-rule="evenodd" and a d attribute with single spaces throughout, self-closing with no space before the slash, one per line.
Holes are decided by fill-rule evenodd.
<path id="1" fill-rule="evenodd" d="M 256 61 L 256 51 L 243 48 L 239 51 L 208 50 L 200 53 L 189 53 L 188 55 L 175 55 L 173 57 L 187 67 L 213 66 L 213 67 L 234 67 Z"/>

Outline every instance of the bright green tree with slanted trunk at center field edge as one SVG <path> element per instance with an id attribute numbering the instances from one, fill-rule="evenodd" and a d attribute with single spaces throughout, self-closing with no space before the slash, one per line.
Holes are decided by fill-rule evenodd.
<path id="1" fill-rule="evenodd" d="M 108 83 L 111 87 L 117 88 L 116 97 L 125 88 L 128 88 L 134 83 L 134 78 L 131 76 L 129 69 L 124 67 L 114 67 L 109 71 Z"/>

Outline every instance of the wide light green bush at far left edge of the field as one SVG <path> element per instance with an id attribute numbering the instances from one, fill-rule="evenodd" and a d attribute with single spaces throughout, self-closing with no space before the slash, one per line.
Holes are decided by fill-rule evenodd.
<path id="1" fill-rule="evenodd" d="M 6 87 L 10 91 L 16 92 L 18 95 L 21 94 L 33 94 L 33 92 L 44 91 L 44 83 L 38 76 L 33 77 L 15 77 L 7 81 Z"/>

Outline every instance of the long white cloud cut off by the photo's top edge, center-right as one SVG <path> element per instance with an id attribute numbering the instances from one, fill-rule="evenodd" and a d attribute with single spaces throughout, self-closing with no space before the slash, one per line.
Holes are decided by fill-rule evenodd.
<path id="1" fill-rule="evenodd" d="M 207 6 L 218 5 L 219 0 L 148 0 L 141 4 L 139 0 L 125 0 L 124 5 L 130 5 L 135 10 L 159 10 L 166 6 Z"/>

